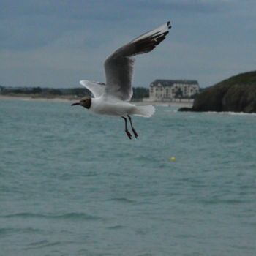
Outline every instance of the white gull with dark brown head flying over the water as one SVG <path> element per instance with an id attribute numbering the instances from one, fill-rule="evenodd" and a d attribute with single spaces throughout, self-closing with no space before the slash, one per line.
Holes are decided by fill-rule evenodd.
<path id="1" fill-rule="evenodd" d="M 127 136 L 132 139 L 132 134 L 127 129 L 127 118 L 133 135 L 138 138 L 138 133 L 132 125 L 132 115 L 150 117 L 154 114 L 152 105 L 135 106 L 129 103 L 132 99 L 132 73 L 135 55 L 148 53 L 159 45 L 169 33 L 170 21 L 157 29 L 146 32 L 136 37 L 131 42 L 118 48 L 105 60 L 106 83 L 81 80 L 80 84 L 91 91 L 94 97 L 83 97 L 80 105 L 99 115 L 118 116 L 124 119 Z"/>

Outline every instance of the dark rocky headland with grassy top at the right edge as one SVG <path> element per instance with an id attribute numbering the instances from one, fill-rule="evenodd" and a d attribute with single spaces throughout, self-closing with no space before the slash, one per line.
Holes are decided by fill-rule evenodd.
<path id="1" fill-rule="evenodd" d="M 256 113 L 256 71 L 235 75 L 197 94 L 192 108 L 179 111 Z"/>

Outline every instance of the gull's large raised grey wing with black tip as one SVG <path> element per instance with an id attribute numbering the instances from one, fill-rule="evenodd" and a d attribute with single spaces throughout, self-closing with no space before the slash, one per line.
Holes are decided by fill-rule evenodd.
<path id="1" fill-rule="evenodd" d="M 136 37 L 127 45 L 118 48 L 105 61 L 105 96 L 116 97 L 124 101 L 132 98 L 133 56 L 153 50 L 169 33 L 170 21 L 157 29 Z"/>

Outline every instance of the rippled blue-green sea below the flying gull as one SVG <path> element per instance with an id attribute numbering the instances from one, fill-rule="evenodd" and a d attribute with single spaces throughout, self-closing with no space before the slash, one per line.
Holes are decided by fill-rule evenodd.
<path id="1" fill-rule="evenodd" d="M 0 110 L 1 256 L 256 255 L 255 114 Z"/>

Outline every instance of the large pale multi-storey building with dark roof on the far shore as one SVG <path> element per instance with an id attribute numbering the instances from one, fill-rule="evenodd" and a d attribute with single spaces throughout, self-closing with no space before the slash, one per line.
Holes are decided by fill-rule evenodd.
<path id="1" fill-rule="evenodd" d="M 154 80 L 149 86 L 150 101 L 170 101 L 175 98 L 189 99 L 199 92 L 197 80 Z"/>

